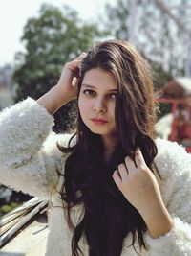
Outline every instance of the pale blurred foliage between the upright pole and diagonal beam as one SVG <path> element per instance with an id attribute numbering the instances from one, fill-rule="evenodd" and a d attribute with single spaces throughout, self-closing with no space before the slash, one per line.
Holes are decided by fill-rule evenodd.
<path id="1" fill-rule="evenodd" d="M 183 0 L 178 2 L 180 5 Z M 173 4 L 173 1 L 168 1 L 167 6 Z M 140 0 L 138 8 L 138 49 L 153 63 L 160 64 L 167 77 L 182 76 L 186 58 L 185 32 L 159 9 L 155 1 Z"/>

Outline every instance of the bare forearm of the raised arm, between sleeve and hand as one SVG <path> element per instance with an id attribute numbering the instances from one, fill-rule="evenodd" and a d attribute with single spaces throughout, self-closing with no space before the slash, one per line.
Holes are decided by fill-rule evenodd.
<path id="1" fill-rule="evenodd" d="M 67 104 L 72 99 L 60 86 L 55 85 L 37 100 L 39 105 L 43 105 L 50 114 L 54 114 L 62 105 Z"/>

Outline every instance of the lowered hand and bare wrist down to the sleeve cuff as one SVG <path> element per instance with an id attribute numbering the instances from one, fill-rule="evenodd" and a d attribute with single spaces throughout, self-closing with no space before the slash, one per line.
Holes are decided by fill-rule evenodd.
<path id="1" fill-rule="evenodd" d="M 155 175 L 147 167 L 139 149 L 135 161 L 129 156 L 113 174 L 123 196 L 138 210 L 152 237 L 159 237 L 172 228 L 172 219 L 163 203 Z"/>

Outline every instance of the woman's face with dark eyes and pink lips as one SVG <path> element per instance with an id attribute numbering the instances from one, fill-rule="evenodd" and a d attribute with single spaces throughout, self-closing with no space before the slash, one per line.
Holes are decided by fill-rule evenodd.
<path id="1" fill-rule="evenodd" d="M 84 124 L 99 135 L 116 133 L 117 80 L 112 73 L 93 68 L 84 75 L 78 107 Z"/>

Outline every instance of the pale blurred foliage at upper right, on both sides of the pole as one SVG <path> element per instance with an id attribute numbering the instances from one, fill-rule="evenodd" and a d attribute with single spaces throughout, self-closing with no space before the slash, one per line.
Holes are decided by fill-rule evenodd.
<path id="1" fill-rule="evenodd" d="M 135 34 L 138 50 L 162 75 L 182 76 L 185 47 L 182 29 L 162 12 L 153 0 L 137 0 Z M 179 4 L 186 0 L 179 0 Z M 173 4 L 169 1 L 168 5 Z M 179 5 L 177 3 L 177 5 Z M 106 4 L 105 27 L 112 28 L 111 35 L 118 39 L 130 39 L 130 8 L 127 0 L 117 0 L 116 5 Z M 181 10 L 180 14 L 185 13 Z M 156 64 L 155 64 L 156 63 Z M 159 71 L 157 68 L 156 72 Z M 159 77 L 162 79 L 162 77 Z"/>

